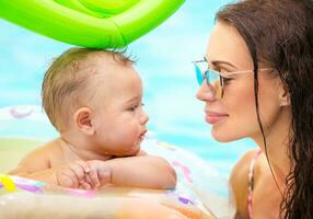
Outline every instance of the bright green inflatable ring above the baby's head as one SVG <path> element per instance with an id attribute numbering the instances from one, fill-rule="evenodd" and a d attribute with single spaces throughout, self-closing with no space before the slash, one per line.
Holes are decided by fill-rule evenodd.
<path id="1" fill-rule="evenodd" d="M 0 18 L 68 44 L 124 47 L 185 0 L 1 0 Z"/>

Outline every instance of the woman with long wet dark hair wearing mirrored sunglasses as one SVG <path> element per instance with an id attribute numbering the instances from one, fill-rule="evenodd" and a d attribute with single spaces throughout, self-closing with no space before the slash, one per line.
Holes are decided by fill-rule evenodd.
<path id="1" fill-rule="evenodd" d="M 215 139 L 259 147 L 231 174 L 236 218 L 313 218 L 313 1 L 225 5 L 195 66 Z"/>

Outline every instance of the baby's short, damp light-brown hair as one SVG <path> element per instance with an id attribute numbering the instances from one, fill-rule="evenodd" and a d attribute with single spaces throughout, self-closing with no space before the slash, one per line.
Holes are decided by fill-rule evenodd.
<path id="1" fill-rule="evenodd" d="M 97 73 L 95 65 L 100 58 L 113 58 L 118 65 L 125 66 L 135 62 L 126 55 L 126 49 L 73 47 L 57 57 L 47 69 L 42 84 L 42 102 L 57 130 L 62 131 L 71 113 L 94 97 L 88 92 L 94 89 L 89 76 Z"/>

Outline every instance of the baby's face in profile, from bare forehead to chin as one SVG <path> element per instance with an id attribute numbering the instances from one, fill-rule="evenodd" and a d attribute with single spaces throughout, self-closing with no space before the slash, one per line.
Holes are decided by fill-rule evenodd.
<path id="1" fill-rule="evenodd" d="M 118 157 L 134 155 L 140 150 L 149 119 L 142 108 L 142 84 L 130 64 L 114 60 L 97 66 L 94 77 L 98 107 L 93 108 L 94 145 L 97 151 Z"/>

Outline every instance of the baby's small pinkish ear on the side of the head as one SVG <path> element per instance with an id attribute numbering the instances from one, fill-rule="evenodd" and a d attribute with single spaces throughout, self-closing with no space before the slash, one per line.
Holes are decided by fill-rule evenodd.
<path id="1" fill-rule="evenodd" d="M 92 111 L 89 107 L 81 107 L 73 114 L 76 126 L 85 135 L 93 135 L 94 128 L 91 124 Z"/>

